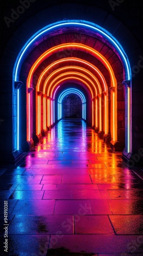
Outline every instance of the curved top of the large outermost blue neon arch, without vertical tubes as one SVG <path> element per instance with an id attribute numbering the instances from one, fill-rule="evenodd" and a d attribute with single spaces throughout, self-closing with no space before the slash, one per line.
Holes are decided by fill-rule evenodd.
<path id="1" fill-rule="evenodd" d="M 19 52 L 17 59 L 15 61 L 14 70 L 13 70 L 14 81 L 18 80 L 19 69 L 22 65 L 23 58 L 25 57 L 27 51 L 30 50 L 30 48 L 34 44 L 34 42 L 36 42 L 36 40 L 38 38 L 40 38 L 40 36 L 43 36 L 44 34 L 49 33 L 51 30 L 54 30 L 58 27 L 63 27 L 63 26 L 68 27 L 69 25 L 74 25 L 74 27 L 77 26 L 77 27 L 88 28 L 90 30 L 93 30 L 94 32 L 101 34 L 103 37 L 105 37 L 110 42 L 110 44 L 116 49 L 116 51 L 122 58 L 122 61 L 124 63 L 124 69 L 125 69 L 125 79 L 127 79 L 127 80 L 131 79 L 131 68 L 130 68 L 130 63 L 129 63 L 128 57 L 127 57 L 124 49 L 122 48 L 121 44 L 115 39 L 115 37 L 113 37 L 113 35 L 111 35 L 107 30 L 98 26 L 97 24 L 87 22 L 85 20 L 80 20 L 80 22 L 77 20 L 73 20 L 73 21 L 67 20 L 66 23 L 65 22 L 56 22 L 53 25 L 48 25 L 48 26 L 42 28 L 26 42 L 26 44 L 22 47 L 21 51 Z"/>

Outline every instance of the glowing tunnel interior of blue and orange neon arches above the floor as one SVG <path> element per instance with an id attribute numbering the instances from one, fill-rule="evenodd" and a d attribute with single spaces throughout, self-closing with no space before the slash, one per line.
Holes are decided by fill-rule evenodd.
<path id="1" fill-rule="evenodd" d="M 61 118 L 72 116 L 85 120 L 113 150 L 130 151 L 127 56 L 103 28 L 89 24 L 69 20 L 49 25 L 20 52 L 13 73 L 24 84 L 17 90 L 17 147 L 23 151 Z M 72 95 L 81 101 L 81 114 L 73 106 L 72 113 L 71 106 L 66 112 L 65 101 L 70 98 L 72 105 Z"/>

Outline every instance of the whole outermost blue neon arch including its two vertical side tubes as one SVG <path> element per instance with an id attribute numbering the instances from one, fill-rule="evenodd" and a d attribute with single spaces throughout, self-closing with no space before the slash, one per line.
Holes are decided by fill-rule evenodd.
<path id="1" fill-rule="evenodd" d="M 67 20 L 66 23 L 63 22 L 58 22 L 55 23 L 54 25 L 49 25 L 46 26 L 45 28 L 41 29 L 40 31 L 38 31 L 36 34 L 34 34 L 25 44 L 25 46 L 21 49 L 15 65 L 14 65 L 14 70 L 13 70 L 13 80 L 14 81 L 18 81 L 19 78 L 19 72 L 20 72 L 20 67 L 22 66 L 22 61 L 23 59 L 26 57 L 27 55 L 27 51 L 30 50 L 30 48 L 32 47 L 32 44 L 34 44 L 34 42 L 40 38 L 40 36 L 43 36 L 44 34 L 48 33 L 51 30 L 54 30 L 57 27 L 61 27 L 61 26 L 68 26 L 68 25 L 74 25 L 74 26 L 83 26 L 86 27 L 88 29 L 92 29 L 94 32 L 98 32 L 99 34 L 101 34 L 103 37 L 105 37 L 110 44 L 116 49 L 116 51 L 118 52 L 118 54 L 121 56 L 121 59 L 123 61 L 124 64 L 124 70 L 125 70 L 125 80 L 131 80 L 131 69 L 130 69 L 130 64 L 129 64 L 129 60 L 122 48 L 122 46 L 118 43 L 118 41 L 105 29 L 101 28 L 98 25 L 95 25 L 93 23 L 90 22 L 85 22 L 85 21 L 81 21 L 80 23 L 76 20 L 71 21 L 71 20 Z M 129 101 L 130 101 L 130 87 L 128 87 L 128 114 L 130 114 L 130 105 L 129 105 Z M 18 127 L 18 119 L 19 119 L 19 91 L 17 91 L 17 138 L 18 138 L 18 134 L 19 134 L 19 127 Z M 128 153 L 130 152 L 130 115 L 128 117 Z M 18 139 L 17 139 L 17 148 L 19 147 L 18 145 Z"/>

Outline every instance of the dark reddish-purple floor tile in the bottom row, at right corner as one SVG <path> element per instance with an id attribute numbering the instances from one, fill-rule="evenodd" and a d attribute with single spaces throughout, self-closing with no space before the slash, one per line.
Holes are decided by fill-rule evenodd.
<path id="1" fill-rule="evenodd" d="M 65 234 L 64 237 L 57 238 L 52 235 L 49 249 L 65 248 L 68 252 L 82 253 L 143 253 L 142 244 L 138 247 L 132 245 L 132 241 L 137 241 L 138 235 L 118 235 L 115 234 Z M 133 249 L 135 250 L 133 251 Z M 91 254 L 91 255 L 92 255 Z M 68 254 L 67 254 L 68 255 Z M 90 255 L 90 254 L 89 254 Z M 126 254 L 125 254 L 126 255 Z M 136 254 L 134 254 L 135 256 Z"/>

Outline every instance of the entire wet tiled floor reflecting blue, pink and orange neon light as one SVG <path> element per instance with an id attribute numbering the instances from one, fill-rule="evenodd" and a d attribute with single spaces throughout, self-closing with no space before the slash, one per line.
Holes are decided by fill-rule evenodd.
<path id="1" fill-rule="evenodd" d="M 1 255 L 143 255 L 142 173 L 84 121 L 61 120 L 20 162 L 0 168 Z"/>

